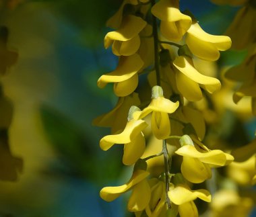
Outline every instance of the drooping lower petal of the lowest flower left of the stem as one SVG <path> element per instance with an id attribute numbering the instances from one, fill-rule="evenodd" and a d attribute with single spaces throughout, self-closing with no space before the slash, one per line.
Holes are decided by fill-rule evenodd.
<path id="1" fill-rule="evenodd" d="M 133 187 L 133 192 L 129 198 L 127 208 L 129 212 L 137 212 L 144 210 L 150 202 L 151 190 L 150 185 L 146 179 L 137 183 Z"/>

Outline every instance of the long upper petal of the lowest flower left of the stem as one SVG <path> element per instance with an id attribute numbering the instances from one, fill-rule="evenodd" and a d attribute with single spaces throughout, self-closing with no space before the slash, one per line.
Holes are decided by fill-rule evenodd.
<path id="1" fill-rule="evenodd" d="M 111 202 L 118 198 L 121 193 L 128 191 L 129 189 L 131 189 L 131 187 L 148 177 L 148 175 L 150 175 L 150 173 L 148 173 L 147 171 L 134 171 L 131 179 L 125 185 L 116 187 L 103 187 L 100 191 L 100 198 L 106 200 L 107 202 Z"/>

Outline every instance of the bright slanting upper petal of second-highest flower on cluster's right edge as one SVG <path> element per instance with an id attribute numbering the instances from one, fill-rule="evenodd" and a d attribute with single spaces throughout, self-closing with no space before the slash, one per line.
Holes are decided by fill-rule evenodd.
<path id="1" fill-rule="evenodd" d="M 220 81 L 213 77 L 208 77 L 199 73 L 187 60 L 185 56 L 178 56 L 174 62 L 174 66 L 181 71 L 189 79 L 205 86 L 205 90 L 209 93 L 213 93 L 220 89 Z"/>

